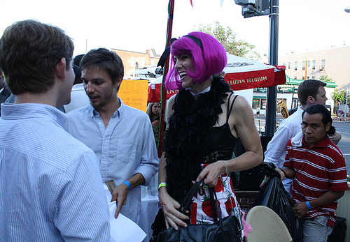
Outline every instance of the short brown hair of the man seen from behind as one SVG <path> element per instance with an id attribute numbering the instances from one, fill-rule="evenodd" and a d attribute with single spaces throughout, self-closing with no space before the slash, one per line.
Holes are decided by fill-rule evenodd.
<path id="1" fill-rule="evenodd" d="M 55 66 L 66 59 L 71 68 L 74 45 L 62 29 L 36 20 L 15 22 L 0 39 L 0 68 L 8 89 L 43 93 L 55 83 Z"/>

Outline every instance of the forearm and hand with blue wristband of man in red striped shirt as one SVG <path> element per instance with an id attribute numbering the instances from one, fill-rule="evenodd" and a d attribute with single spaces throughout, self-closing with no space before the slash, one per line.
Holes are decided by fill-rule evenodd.
<path id="1" fill-rule="evenodd" d="M 339 199 L 343 195 L 344 195 L 344 191 L 339 191 L 339 192 L 328 191 L 328 192 L 325 192 L 323 195 L 321 195 L 321 197 L 318 197 L 314 200 L 309 201 L 309 204 L 311 206 L 311 209 L 314 209 L 318 206 L 329 204 L 330 202 L 333 202 Z M 307 213 L 307 211 L 309 211 L 309 208 L 307 207 L 306 202 L 300 202 L 295 204 L 293 211 L 294 211 L 295 217 L 302 218 L 302 216 L 304 216 Z"/>

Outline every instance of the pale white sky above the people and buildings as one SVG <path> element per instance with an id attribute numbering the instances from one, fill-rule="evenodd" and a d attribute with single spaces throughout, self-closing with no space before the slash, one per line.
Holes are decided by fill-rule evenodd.
<path id="1" fill-rule="evenodd" d="M 0 35 L 13 22 L 35 19 L 60 27 L 75 45 L 74 55 L 94 48 L 162 54 L 167 37 L 168 0 L 1 1 Z M 279 55 L 350 45 L 350 0 L 280 0 Z M 172 37 L 200 24 L 230 27 L 238 40 L 269 52 L 269 17 L 241 15 L 234 0 L 175 0 Z M 265 60 L 263 60 L 265 61 Z"/>

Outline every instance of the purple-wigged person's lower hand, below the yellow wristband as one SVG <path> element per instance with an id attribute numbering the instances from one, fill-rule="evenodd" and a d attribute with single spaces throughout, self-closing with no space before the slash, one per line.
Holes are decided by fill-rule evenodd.
<path id="1" fill-rule="evenodd" d="M 179 202 L 169 196 L 165 188 L 162 188 L 159 193 L 160 204 L 162 204 L 162 210 L 165 215 L 165 225 L 167 229 L 172 226 L 176 231 L 179 230 L 177 225 L 182 227 L 187 227 L 186 222 L 183 220 L 188 220 L 187 215 L 179 212 L 177 209 L 180 208 Z M 186 211 L 188 213 L 188 211 Z"/>

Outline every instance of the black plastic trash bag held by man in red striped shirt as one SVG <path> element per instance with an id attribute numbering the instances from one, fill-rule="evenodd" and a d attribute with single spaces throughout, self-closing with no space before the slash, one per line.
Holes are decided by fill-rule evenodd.
<path id="1" fill-rule="evenodd" d="M 293 241 L 302 242 L 302 222 L 294 216 L 294 202 L 284 189 L 280 174 L 274 168 L 272 163 L 262 164 L 262 169 L 265 169 L 265 174 L 270 176 L 270 179 L 261 188 L 253 206 L 262 205 L 272 209 L 283 220 Z"/>

